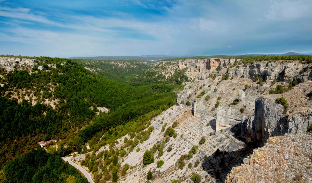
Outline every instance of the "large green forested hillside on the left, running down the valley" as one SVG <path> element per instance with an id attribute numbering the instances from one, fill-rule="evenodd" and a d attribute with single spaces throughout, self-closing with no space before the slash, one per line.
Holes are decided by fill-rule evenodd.
<path id="1" fill-rule="evenodd" d="M 23 58 L 34 59 L 34 64 L 21 64 Z M 92 142 L 105 131 L 175 104 L 173 90 L 180 88 L 164 84 L 135 87 L 98 76 L 70 59 L 50 57 L 6 61 L 0 75 L 1 168 L 43 140 L 59 140 L 57 148 L 48 149 L 54 155 L 85 151 L 84 143 L 89 140 L 92 150 Z"/>

